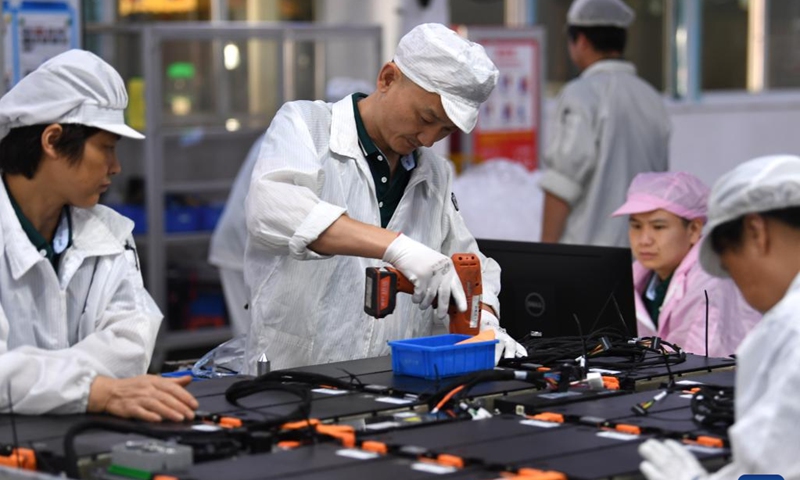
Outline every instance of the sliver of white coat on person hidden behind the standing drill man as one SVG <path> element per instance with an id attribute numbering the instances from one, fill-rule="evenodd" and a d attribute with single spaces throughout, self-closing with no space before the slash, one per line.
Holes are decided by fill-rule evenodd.
<path id="1" fill-rule="evenodd" d="M 228 317 L 235 336 L 246 334 L 250 329 L 250 311 L 245 309 L 245 305 L 250 302 L 250 292 L 244 283 L 244 247 L 247 242 L 244 201 L 263 139 L 262 135 L 253 143 L 239 173 L 236 174 L 231 193 L 225 202 L 225 210 L 208 247 L 208 262 L 220 270 L 222 291 L 225 293 Z"/>

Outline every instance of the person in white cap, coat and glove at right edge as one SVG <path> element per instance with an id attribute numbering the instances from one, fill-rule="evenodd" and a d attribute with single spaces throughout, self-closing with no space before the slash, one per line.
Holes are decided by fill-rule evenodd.
<path id="1" fill-rule="evenodd" d="M 738 166 L 714 185 L 708 217 L 700 263 L 730 276 L 764 312 L 736 351 L 733 460 L 709 475 L 674 440 L 649 440 L 639 447 L 642 473 L 649 480 L 800 479 L 800 157 Z"/>

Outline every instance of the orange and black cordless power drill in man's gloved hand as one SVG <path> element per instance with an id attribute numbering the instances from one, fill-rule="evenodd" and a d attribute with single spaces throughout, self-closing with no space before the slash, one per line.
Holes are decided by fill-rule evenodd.
<path id="1" fill-rule="evenodd" d="M 447 313 L 450 315 L 450 333 L 477 335 L 480 331 L 481 315 L 481 262 L 472 253 L 456 253 L 451 257 L 456 274 L 461 279 L 467 296 L 467 310 L 459 312 L 451 301 Z M 397 269 L 392 267 L 367 268 L 367 284 L 364 292 L 364 311 L 375 318 L 383 318 L 394 311 L 395 297 L 399 292 L 414 293 L 414 285 Z M 436 305 L 437 300 L 433 301 Z"/>

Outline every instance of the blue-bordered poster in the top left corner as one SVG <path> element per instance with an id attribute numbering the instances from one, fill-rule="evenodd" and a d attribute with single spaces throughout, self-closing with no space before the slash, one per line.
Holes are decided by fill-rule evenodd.
<path id="1" fill-rule="evenodd" d="M 80 0 L 3 1 L 3 88 L 48 59 L 80 48 Z"/>

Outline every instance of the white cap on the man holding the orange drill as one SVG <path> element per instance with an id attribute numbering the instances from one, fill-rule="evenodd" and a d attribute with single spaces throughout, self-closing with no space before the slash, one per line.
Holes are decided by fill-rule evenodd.
<path id="1" fill-rule="evenodd" d="M 412 82 L 439 94 L 445 113 L 469 133 L 497 84 L 497 67 L 477 43 L 439 23 L 423 23 L 397 45 L 394 62 Z"/>

